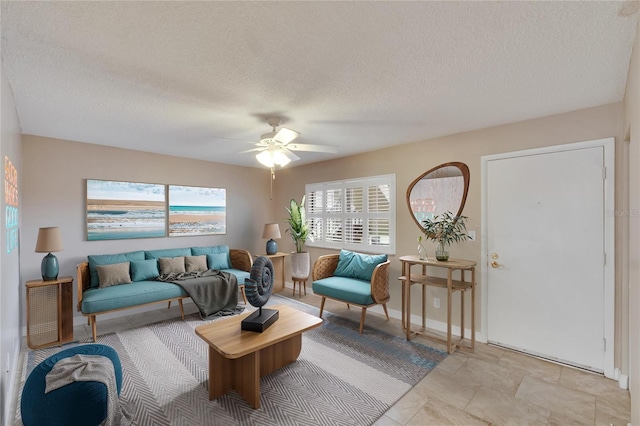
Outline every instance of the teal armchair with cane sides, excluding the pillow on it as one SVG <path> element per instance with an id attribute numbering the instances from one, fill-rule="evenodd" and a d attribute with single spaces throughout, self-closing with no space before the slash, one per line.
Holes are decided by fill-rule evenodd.
<path id="1" fill-rule="evenodd" d="M 313 283 L 311 288 L 314 294 L 322 297 L 320 303 L 320 317 L 324 310 L 326 299 L 337 300 L 350 305 L 360 306 L 360 334 L 364 328 L 364 319 L 367 315 L 367 308 L 375 305 L 382 305 L 384 313 L 389 320 L 387 312 L 387 302 L 391 299 L 389 295 L 389 265 L 386 260 L 375 266 L 370 280 L 362 278 L 335 276 L 340 255 L 328 254 L 320 256 L 313 265 Z M 356 274 L 357 275 L 357 274 Z"/>

